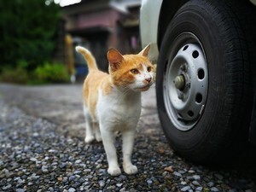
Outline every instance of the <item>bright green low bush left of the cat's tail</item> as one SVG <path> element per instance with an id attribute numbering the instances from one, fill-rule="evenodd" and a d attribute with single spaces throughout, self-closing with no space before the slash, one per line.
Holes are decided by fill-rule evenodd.
<path id="1" fill-rule="evenodd" d="M 69 75 L 67 68 L 63 64 L 44 63 L 43 66 L 37 67 L 34 78 L 42 83 L 67 83 Z"/>

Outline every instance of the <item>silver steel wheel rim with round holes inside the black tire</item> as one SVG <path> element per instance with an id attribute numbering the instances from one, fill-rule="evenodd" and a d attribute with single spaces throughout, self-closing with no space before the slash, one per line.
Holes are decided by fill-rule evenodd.
<path id="1" fill-rule="evenodd" d="M 199 38 L 183 32 L 172 43 L 166 61 L 163 96 L 166 113 L 179 131 L 193 129 L 207 102 L 207 59 Z"/>

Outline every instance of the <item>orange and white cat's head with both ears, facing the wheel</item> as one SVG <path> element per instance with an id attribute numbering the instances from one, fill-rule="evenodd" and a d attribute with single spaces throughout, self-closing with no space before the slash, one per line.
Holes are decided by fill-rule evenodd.
<path id="1" fill-rule="evenodd" d="M 148 60 L 150 45 L 137 55 L 108 50 L 109 74 L 113 84 L 125 90 L 145 91 L 154 83 L 154 66 Z"/>

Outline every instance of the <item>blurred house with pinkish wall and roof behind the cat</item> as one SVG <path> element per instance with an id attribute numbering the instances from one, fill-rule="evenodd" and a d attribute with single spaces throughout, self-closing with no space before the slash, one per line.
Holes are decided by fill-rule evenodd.
<path id="1" fill-rule="evenodd" d="M 96 56 L 98 66 L 108 71 L 108 48 L 122 54 L 140 49 L 138 17 L 141 0 L 82 0 L 63 7 L 65 30 L 73 39 L 73 47 L 84 45 Z M 85 66 L 74 53 L 75 65 Z"/>

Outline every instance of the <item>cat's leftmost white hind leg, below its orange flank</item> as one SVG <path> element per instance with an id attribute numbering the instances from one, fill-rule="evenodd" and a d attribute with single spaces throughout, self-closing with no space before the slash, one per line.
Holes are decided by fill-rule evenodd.
<path id="1" fill-rule="evenodd" d="M 94 141 L 95 137 L 93 134 L 93 123 L 90 117 L 88 108 L 84 106 L 84 118 L 85 118 L 85 143 L 91 143 Z"/>

